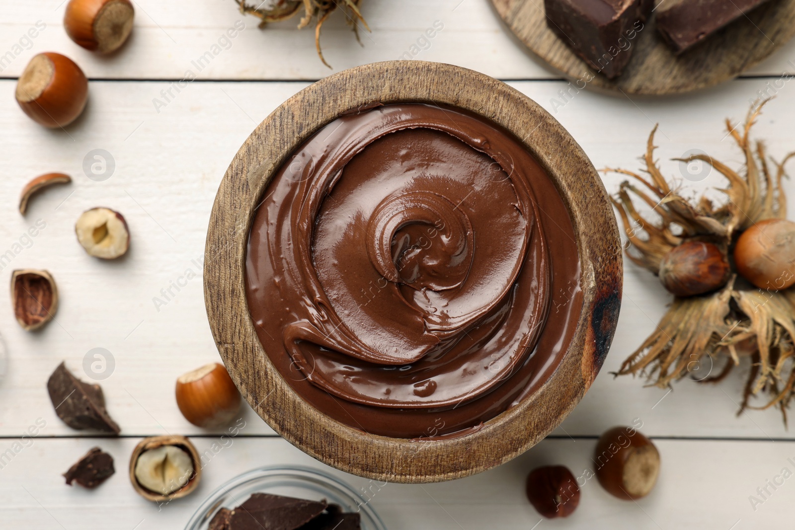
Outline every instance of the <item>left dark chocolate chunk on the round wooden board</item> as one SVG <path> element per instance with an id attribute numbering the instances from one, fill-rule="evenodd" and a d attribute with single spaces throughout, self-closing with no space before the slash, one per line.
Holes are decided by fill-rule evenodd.
<path id="1" fill-rule="evenodd" d="M 630 61 L 632 40 L 650 14 L 650 0 L 545 0 L 546 21 L 561 41 L 613 79 Z"/>

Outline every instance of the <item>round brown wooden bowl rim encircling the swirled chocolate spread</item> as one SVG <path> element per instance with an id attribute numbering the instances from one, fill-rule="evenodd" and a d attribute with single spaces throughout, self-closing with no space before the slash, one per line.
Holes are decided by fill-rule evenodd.
<path id="1" fill-rule="evenodd" d="M 262 348 L 246 300 L 246 244 L 255 209 L 282 163 L 320 127 L 380 103 L 439 103 L 480 114 L 522 142 L 571 215 L 583 309 L 560 366 L 536 393 L 479 431 L 433 442 L 370 435 L 305 402 Z M 210 327 L 242 396 L 273 429 L 320 461 L 388 482 L 438 482 L 507 462 L 543 439 L 583 397 L 602 366 L 619 315 L 622 249 L 599 175 L 560 123 L 518 91 L 448 64 L 389 61 L 351 68 L 288 99 L 242 145 L 221 182 L 207 232 L 204 296 Z"/>

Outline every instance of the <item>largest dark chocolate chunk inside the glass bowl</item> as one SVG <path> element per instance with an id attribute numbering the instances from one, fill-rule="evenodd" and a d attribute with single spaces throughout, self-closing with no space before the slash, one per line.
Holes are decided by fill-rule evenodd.
<path id="1" fill-rule="evenodd" d="M 224 530 L 296 530 L 324 512 L 326 501 L 254 493 L 232 510 Z"/>

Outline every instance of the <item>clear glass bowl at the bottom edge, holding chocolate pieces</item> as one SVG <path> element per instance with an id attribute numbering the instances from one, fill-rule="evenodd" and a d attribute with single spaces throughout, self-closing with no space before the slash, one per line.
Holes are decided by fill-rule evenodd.
<path id="1" fill-rule="evenodd" d="M 272 493 L 310 501 L 325 499 L 328 504 L 339 505 L 343 512 L 358 512 L 362 516 L 362 530 L 386 530 L 378 513 L 355 489 L 332 474 L 304 466 L 264 466 L 238 475 L 207 497 L 185 530 L 207 530 L 219 509 L 235 508 L 252 493 Z"/>

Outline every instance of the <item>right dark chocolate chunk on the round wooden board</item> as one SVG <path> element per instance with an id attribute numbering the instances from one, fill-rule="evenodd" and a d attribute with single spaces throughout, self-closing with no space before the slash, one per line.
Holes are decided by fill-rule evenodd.
<path id="1" fill-rule="evenodd" d="M 657 8 L 657 31 L 679 54 L 765 2 L 768 0 L 663 0 Z"/>

